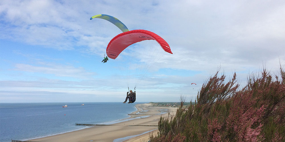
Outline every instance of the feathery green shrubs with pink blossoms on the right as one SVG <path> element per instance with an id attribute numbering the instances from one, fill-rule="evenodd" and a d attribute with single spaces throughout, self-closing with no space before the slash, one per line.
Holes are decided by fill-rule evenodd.
<path id="1" fill-rule="evenodd" d="M 273 80 L 270 72 L 250 74 L 239 88 L 219 70 L 202 85 L 197 101 L 181 106 L 175 116 L 160 118 L 158 135 L 150 141 L 285 141 L 285 72 Z"/>

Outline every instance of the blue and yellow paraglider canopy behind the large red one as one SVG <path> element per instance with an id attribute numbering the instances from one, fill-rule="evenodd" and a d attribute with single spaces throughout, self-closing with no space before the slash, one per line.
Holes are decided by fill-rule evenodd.
<path id="1" fill-rule="evenodd" d="M 107 20 L 107 21 L 113 23 L 114 25 L 116 25 L 122 32 L 129 31 L 129 29 L 127 28 L 127 26 L 125 26 L 125 24 L 123 24 L 119 19 L 117 19 L 113 16 L 106 15 L 106 14 L 98 14 L 98 15 L 92 16 L 90 18 L 90 20 L 92 20 L 94 18 L 101 18 L 101 19 Z"/>

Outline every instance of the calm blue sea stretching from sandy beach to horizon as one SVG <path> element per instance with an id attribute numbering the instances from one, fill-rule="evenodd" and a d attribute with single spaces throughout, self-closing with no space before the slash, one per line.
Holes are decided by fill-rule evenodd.
<path id="1" fill-rule="evenodd" d="M 76 123 L 117 123 L 129 118 L 127 114 L 136 111 L 138 103 L 148 102 L 0 103 L 0 141 L 28 141 L 88 128 Z"/>

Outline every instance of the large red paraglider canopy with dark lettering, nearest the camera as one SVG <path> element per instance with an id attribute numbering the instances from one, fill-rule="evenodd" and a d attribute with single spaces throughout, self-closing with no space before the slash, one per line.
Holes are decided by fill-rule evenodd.
<path id="1" fill-rule="evenodd" d="M 144 40 L 156 40 L 164 51 L 173 54 L 168 43 L 157 34 L 147 30 L 131 30 L 115 36 L 109 42 L 106 49 L 107 55 L 111 59 L 116 59 L 128 46 Z"/>

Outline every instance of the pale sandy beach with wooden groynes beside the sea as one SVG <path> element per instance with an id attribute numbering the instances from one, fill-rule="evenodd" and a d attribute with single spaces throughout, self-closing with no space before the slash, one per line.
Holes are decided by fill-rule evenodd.
<path id="1" fill-rule="evenodd" d="M 125 104 L 131 105 L 131 104 Z M 32 139 L 30 141 L 40 142 L 147 142 L 150 134 L 157 134 L 157 125 L 162 117 L 168 117 L 168 112 L 171 115 L 176 114 L 177 108 L 150 106 L 150 104 L 137 104 L 138 109 L 129 114 L 131 117 L 126 118 L 125 122 L 112 124 L 111 126 L 93 126 L 83 130 L 72 131 L 68 133 Z M 166 110 L 168 109 L 168 110 Z M 143 110 L 143 112 L 141 112 Z M 146 111 L 148 110 L 148 111 Z M 162 114 L 161 111 L 166 112 Z M 144 118 L 143 116 L 148 116 Z M 142 118 L 141 118 L 142 117 Z M 131 119 L 130 118 L 137 118 Z M 147 126 L 133 126 L 147 125 Z M 148 133 L 149 132 L 149 133 Z M 143 135 L 142 135 L 143 134 Z"/>

